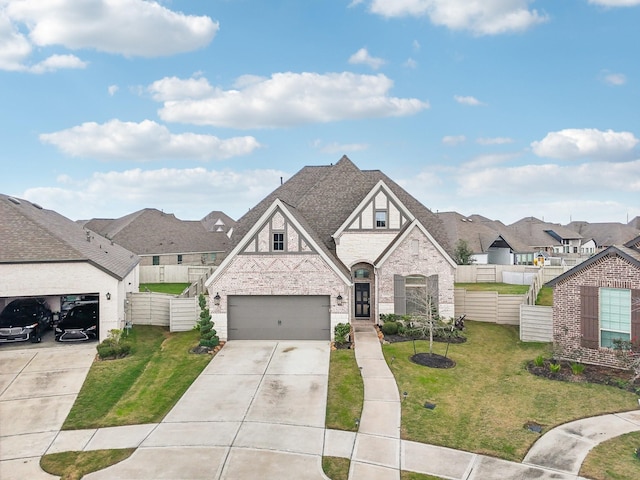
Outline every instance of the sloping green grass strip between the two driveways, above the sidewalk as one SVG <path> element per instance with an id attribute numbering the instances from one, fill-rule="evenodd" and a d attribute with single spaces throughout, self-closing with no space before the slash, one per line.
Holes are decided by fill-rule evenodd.
<path id="1" fill-rule="evenodd" d="M 189 353 L 198 338 L 194 330 L 135 326 L 132 354 L 93 363 L 63 430 L 162 420 L 211 359 Z"/>

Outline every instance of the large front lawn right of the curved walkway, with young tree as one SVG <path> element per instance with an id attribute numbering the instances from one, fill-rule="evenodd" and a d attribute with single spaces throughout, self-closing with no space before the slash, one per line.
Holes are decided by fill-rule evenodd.
<path id="1" fill-rule="evenodd" d="M 558 382 L 536 377 L 525 369 L 538 355 L 548 357 L 549 345 L 522 343 L 517 327 L 467 322 L 468 341 L 451 345 L 457 365 L 433 369 L 412 363 L 412 342 L 383 346 L 400 392 L 402 437 L 521 461 L 538 434 L 524 428 L 535 421 L 544 431 L 571 420 L 637 408 L 635 395 L 615 387 Z M 428 352 L 428 342 L 416 342 Z M 444 354 L 446 344 L 435 343 Z M 425 402 L 436 404 L 434 410 Z"/>

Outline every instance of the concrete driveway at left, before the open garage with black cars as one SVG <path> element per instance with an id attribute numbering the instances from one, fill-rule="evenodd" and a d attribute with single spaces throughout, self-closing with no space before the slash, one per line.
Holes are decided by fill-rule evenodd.
<path id="1" fill-rule="evenodd" d="M 0 478 L 57 478 L 40 470 L 40 457 L 62 427 L 95 348 L 95 343 L 0 346 Z"/>

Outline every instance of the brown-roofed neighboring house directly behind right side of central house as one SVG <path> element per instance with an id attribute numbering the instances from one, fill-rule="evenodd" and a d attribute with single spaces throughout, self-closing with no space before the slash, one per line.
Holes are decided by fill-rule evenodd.
<path id="1" fill-rule="evenodd" d="M 528 247 L 510 235 L 500 222 L 480 215 L 466 217 L 457 212 L 440 212 L 438 217 L 443 222 L 449 243 L 455 249 L 458 242 L 464 240 L 473 252 L 475 264 L 513 265 L 528 251 Z M 499 229 L 498 225 L 504 228 Z M 533 260 L 533 252 L 530 253 Z"/>

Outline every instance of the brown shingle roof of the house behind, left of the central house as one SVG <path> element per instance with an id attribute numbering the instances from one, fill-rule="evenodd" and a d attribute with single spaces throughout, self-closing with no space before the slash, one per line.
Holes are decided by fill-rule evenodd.
<path id="1" fill-rule="evenodd" d="M 155 208 L 118 219 L 89 220 L 84 226 L 138 255 L 224 252 L 229 243 L 226 230 L 209 231 L 202 221 L 180 220 Z"/>

